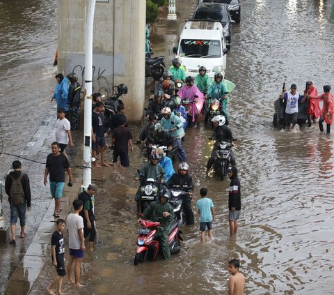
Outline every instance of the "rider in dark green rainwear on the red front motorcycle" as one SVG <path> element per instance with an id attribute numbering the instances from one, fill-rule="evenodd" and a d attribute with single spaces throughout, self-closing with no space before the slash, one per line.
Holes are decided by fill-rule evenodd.
<path id="1" fill-rule="evenodd" d="M 170 222 L 174 219 L 173 207 L 168 203 L 170 199 L 170 190 L 163 188 L 159 192 L 159 200 L 154 201 L 150 206 L 143 212 L 143 217 L 146 220 L 159 221 L 160 226 L 157 227 L 157 234 L 161 241 L 162 255 L 164 259 L 170 259 L 170 248 L 168 245 L 168 231 Z M 137 222 L 141 222 L 141 218 Z"/>

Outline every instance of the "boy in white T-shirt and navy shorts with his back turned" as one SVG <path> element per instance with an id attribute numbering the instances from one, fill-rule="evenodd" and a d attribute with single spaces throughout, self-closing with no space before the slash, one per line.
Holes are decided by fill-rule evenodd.
<path id="1" fill-rule="evenodd" d="M 72 284 L 72 273 L 74 263 L 74 283 L 76 287 L 83 287 L 80 284 L 81 261 L 84 257 L 84 219 L 79 215 L 84 208 L 81 199 L 74 199 L 74 212 L 67 216 L 68 247 L 70 248 L 70 261 L 67 265 L 68 283 Z"/>

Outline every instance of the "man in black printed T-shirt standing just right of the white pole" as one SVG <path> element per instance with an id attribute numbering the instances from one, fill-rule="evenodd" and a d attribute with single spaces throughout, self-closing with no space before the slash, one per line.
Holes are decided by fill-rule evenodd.
<path id="1" fill-rule="evenodd" d="M 92 127 L 93 127 L 93 137 L 92 137 L 92 149 L 93 158 L 96 158 L 97 153 L 101 153 L 101 165 L 95 163 L 95 167 L 107 166 L 104 162 L 106 156 L 106 133 L 104 132 L 103 126 L 103 115 L 104 104 L 101 101 L 97 101 L 95 108 L 92 112 Z"/>

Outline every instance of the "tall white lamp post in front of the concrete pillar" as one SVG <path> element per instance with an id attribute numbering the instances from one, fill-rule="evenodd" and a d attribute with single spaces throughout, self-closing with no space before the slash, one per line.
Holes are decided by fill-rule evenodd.
<path id="1" fill-rule="evenodd" d="M 93 22 L 95 0 L 89 1 L 85 43 L 85 109 L 84 109 L 84 177 L 83 190 L 92 180 L 92 89 L 93 89 Z"/>

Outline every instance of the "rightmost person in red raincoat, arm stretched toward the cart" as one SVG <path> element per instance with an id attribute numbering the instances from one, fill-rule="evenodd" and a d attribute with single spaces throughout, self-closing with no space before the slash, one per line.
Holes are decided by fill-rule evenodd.
<path id="1" fill-rule="evenodd" d="M 331 86 L 324 86 L 324 93 L 319 96 L 310 96 L 313 99 L 322 99 L 324 100 L 324 106 L 322 107 L 321 116 L 319 119 L 319 129 L 321 132 L 324 132 L 324 127 L 322 126 L 322 122 L 326 122 L 327 124 L 327 134 L 331 132 L 331 125 L 333 123 L 333 108 L 334 108 L 334 96 L 329 93 L 331 91 Z"/>

